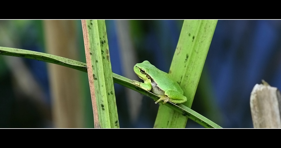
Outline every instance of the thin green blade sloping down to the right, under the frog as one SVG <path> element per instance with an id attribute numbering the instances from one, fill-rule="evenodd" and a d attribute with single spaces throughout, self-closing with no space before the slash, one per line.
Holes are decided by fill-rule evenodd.
<path id="1" fill-rule="evenodd" d="M 35 51 L 30 51 L 30 50 L 23 50 L 23 49 L 9 48 L 9 47 L 0 47 L 0 55 L 24 57 L 24 58 L 33 59 L 33 60 L 54 63 L 57 65 L 66 66 L 66 67 L 73 68 L 73 69 L 80 70 L 80 71 L 87 73 L 87 65 L 85 63 L 78 62 L 76 60 L 71 60 L 71 59 L 68 59 L 65 57 L 42 53 L 42 52 L 35 52 Z M 112 73 L 112 75 L 113 75 L 113 81 L 115 83 L 123 85 L 134 91 L 137 91 L 145 96 L 148 96 L 148 97 L 154 99 L 155 101 L 157 101 L 160 98 L 159 96 L 156 96 L 155 94 L 153 94 L 149 91 L 146 91 L 137 85 L 134 85 L 133 83 L 131 83 L 132 80 L 130 80 L 128 78 L 125 78 L 121 75 L 117 75 L 115 73 Z M 161 102 L 163 102 L 163 101 L 161 101 Z M 205 118 L 204 116 L 198 114 L 197 112 L 193 111 L 192 109 L 190 109 L 182 104 L 174 104 L 171 102 L 167 102 L 165 105 L 174 109 L 175 111 L 178 111 L 183 116 L 187 116 L 188 118 L 190 118 L 191 120 L 204 126 L 205 128 L 222 128 L 221 126 L 217 125 L 213 121 Z"/>

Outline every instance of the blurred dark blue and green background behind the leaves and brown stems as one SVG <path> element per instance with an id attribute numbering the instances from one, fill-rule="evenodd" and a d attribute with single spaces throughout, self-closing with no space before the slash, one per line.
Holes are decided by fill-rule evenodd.
<path id="1" fill-rule="evenodd" d="M 73 20 L 77 32 L 79 61 L 86 63 L 81 20 Z M 112 71 L 124 74 L 120 32 L 122 23 L 106 20 Z M 183 20 L 127 20 L 129 41 L 137 63 L 150 61 L 168 72 Z M 126 23 L 125 23 L 126 24 Z M 45 24 L 46 25 L 46 24 Z M 46 52 L 42 20 L 0 20 L 0 46 Z M 126 29 L 126 27 L 125 27 Z M 253 128 L 250 94 L 253 86 L 266 80 L 281 88 L 280 20 L 219 20 L 205 61 L 192 109 L 223 128 Z M 125 45 L 127 43 L 125 42 Z M 46 63 L 23 59 L 41 88 L 34 101 L 20 88 L 9 60 L 0 55 L 0 128 L 54 128 L 52 95 Z M 16 68 L 17 69 L 17 68 Z M 133 71 L 133 68 L 131 68 Z M 25 77 L 21 77 L 25 79 Z M 133 78 L 130 78 L 133 79 Z M 81 74 L 83 128 L 93 128 L 93 113 L 87 74 Z M 136 121 L 130 117 L 123 86 L 115 84 L 121 128 L 152 128 L 158 105 L 142 96 Z M 39 103 L 38 103 L 39 102 Z M 43 107 L 42 107 L 43 106 Z M 42 111 L 42 108 L 44 108 Z M 80 126 L 81 127 L 81 126 Z M 187 121 L 187 128 L 202 126 Z M 75 128 L 75 127 L 73 127 Z"/>

